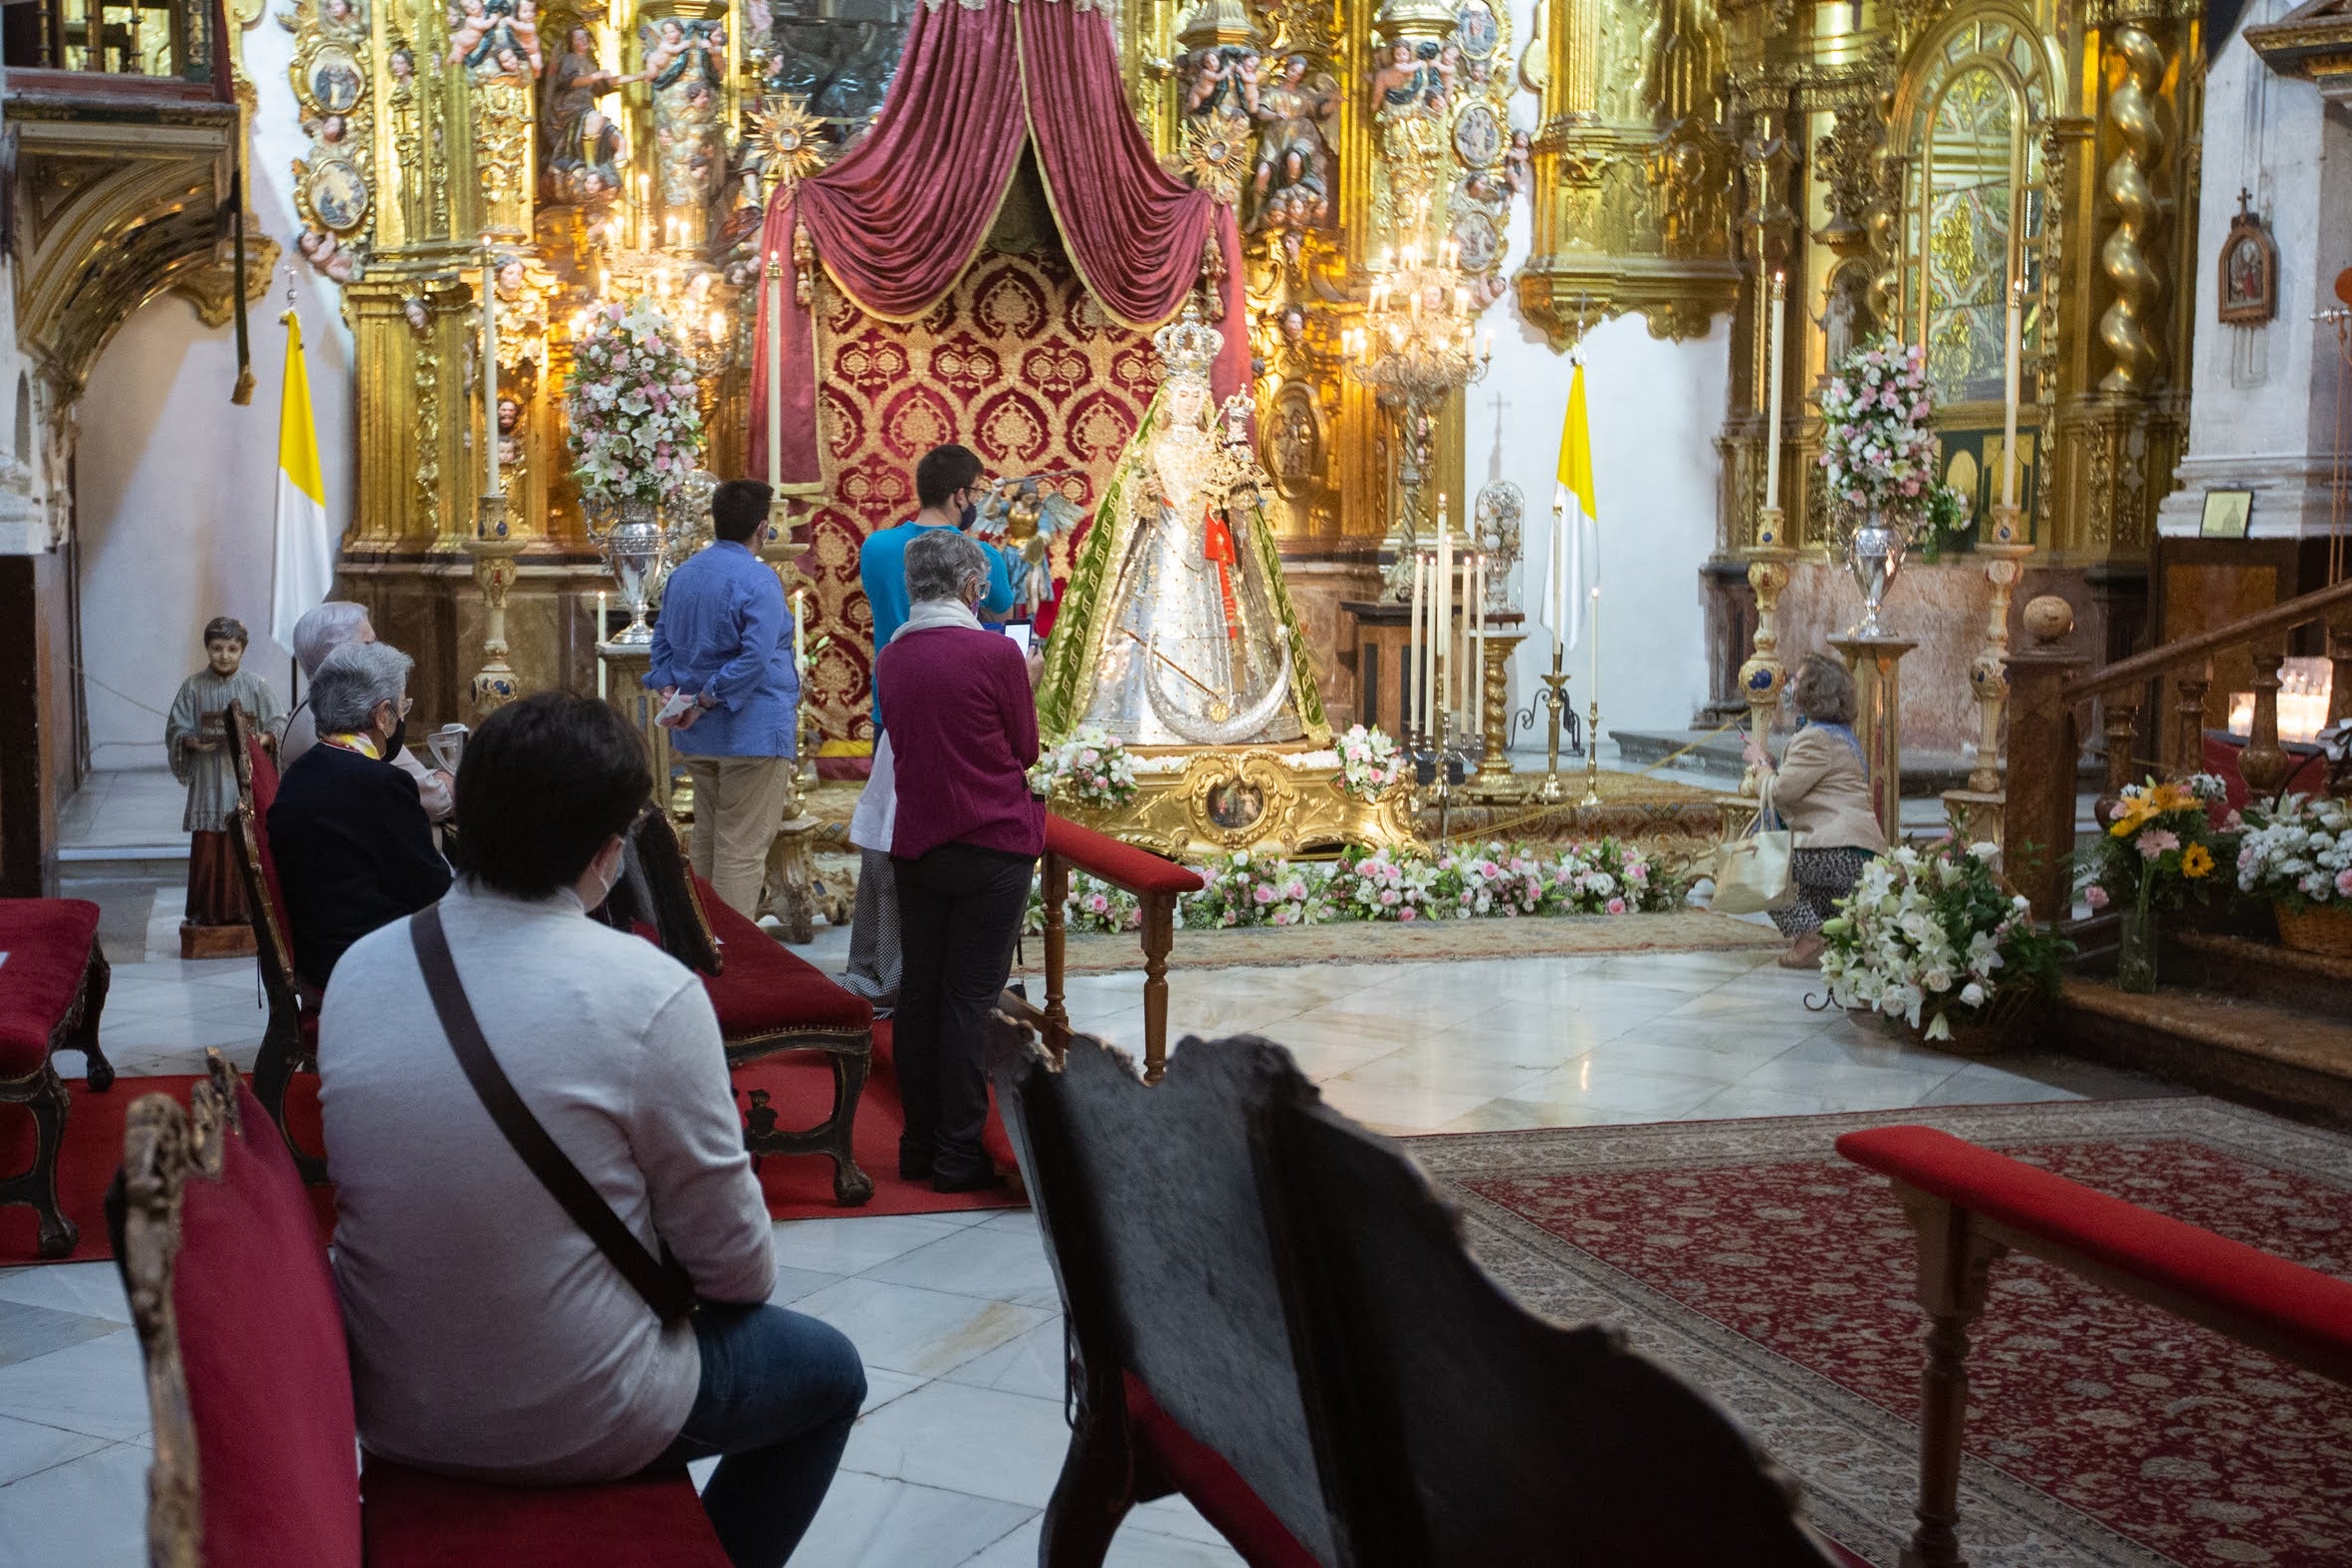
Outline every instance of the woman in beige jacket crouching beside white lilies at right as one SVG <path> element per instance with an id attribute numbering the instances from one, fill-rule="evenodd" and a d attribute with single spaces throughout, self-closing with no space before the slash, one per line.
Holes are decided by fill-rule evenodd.
<path id="1" fill-rule="evenodd" d="M 1853 677 L 1846 668 L 1813 654 L 1788 686 L 1788 701 L 1804 722 L 1780 752 L 1780 764 L 1748 741 L 1748 757 L 1771 773 L 1771 804 L 1795 835 L 1790 879 L 1797 903 L 1773 910 L 1780 936 L 1790 938 L 1780 954 L 1783 969 L 1820 964 L 1820 924 L 1837 912 L 1837 900 L 1853 893 L 1863 863 L 1886 849 L 1879 818 L 1870 809 L 1870 773 L 1863 766 L 1863 743 L 1853 736 Z"/>

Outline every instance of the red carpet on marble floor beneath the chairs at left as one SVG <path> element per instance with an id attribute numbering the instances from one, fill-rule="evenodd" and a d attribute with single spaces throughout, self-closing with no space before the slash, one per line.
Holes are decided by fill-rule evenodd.
<path id="1" fill-rule="evenodd" d="M 101 1095 L 89 1093 L 80 1079 L 68 1079 L 73 1091 L 73 1114 L 66 1121 L 66 1147 L 56 1166 L 56 1190 L 66 1204 L 66 1218 L 82 1227 L 73 1258 L 59 1262 L 87 1262 L 113 1258 L 106 1244 L 106 1182 L 122 1166 L 122 1121 L 139 1095 L 162 1093 L 181 1105 L 188 1103 L 193 1077 L 120 1077 Z M 736 1103 L 753 1088 L 767 1088 L 783 1112 L 781 1126 L 809 1126 L 823 1119 L 833 1105 L 833 1070 L 821 1056 L 788 1056 L 734 1074 Z M 287 1098 L 287 1119 L 294 1138 L 303 1147 L 320 1147 L 318 1138 L 318 1079 L 299 1074 Z M 779 1220 L 826 1220 L 856 1218 L 870 1213 L 946 1213 L 950 1208 L 1016 1208 L 1011 1192 L 962 1192 L 938 1194 L 931 1182 L 898 1180 L 898 1131 L 906 1112 L 898 1107 L 898 1081 L 889 1070 L 889 1023 L 875 1025 L 875 1072 L 866 1079 L 858 1100 L 856 1157 L 858 1166 L 875 1182 L 875 1194 L 858 1208 L 842 1208 L 833 1201 L 833 1161 L 821 1154 L 774 1157 L 760 1166 L 760 1190 L 767 1194 L 767 1211 Z M 990 1114 L 988 1150 L 1000 1166 L 1011 1166 L 1011 1145 L 1004 1128 Z M 0 1105 L 0 1171 L 24 1171 L 33 1161 L 33 1117 L 19 1105 Z M 320 1227 L 334 1225 L 334 1197 L 315 1190 Z M 21 1206 L 0 1208 L 0 1267 L 40 1262 L 33 1255 L 33 1211 Z"/>

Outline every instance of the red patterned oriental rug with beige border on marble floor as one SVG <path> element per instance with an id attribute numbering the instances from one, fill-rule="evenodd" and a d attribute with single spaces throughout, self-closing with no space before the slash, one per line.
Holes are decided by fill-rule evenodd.
<path id="1" fill-rule="evenodd" d="M 1524 1302 L 1712 1392 L 1896 1568 L 1917 1502 L 1912 1229 L 1839 1133 L 1912 1121 L 2352 1276 L 2352 1138 L 2201 1098 L 1414 1138 Z M 2352 1561 L 2352 1394 L 2032 1258 L 1973 1328 L 1976 1568 Z"/>

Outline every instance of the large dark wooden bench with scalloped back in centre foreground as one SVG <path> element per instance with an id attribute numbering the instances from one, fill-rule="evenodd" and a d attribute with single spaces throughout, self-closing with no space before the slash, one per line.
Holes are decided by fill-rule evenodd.
<path id="1" fill-rule="evenodd" d="M 1261 1568 L 1837 1561 L 1700 1394 L 1512 1305 L 1279 1046 L 1188 1039 L 1145 1086 L 1000 1018 L 990 1058 L 1075 1345 L 1047 1568 L 1169 1490 Z"/>

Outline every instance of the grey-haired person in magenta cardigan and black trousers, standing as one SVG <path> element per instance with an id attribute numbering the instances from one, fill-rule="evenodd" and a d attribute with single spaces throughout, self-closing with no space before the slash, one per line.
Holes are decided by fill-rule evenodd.
<path id="1" fill-rule="evenodd" d="M 981 1152 L 981 1025 L 1011 973 L 1044 853 L 1044 802 L 1028 788 L 1037 698 L 1021 644 L 974 614 L 988 588 L 981 545 L 924 529 L 906 545 L 906 625 L 875 658 L 898 785 L 898 1175 L 974 1192 L 1000 1180 Z"/>

